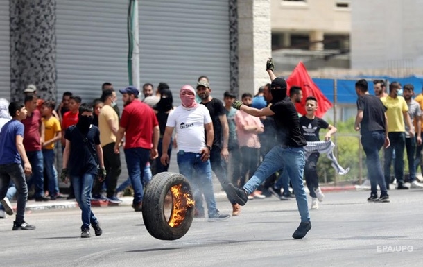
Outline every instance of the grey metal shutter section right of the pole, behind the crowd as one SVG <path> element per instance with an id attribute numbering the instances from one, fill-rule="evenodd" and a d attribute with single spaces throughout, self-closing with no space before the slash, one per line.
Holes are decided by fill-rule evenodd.
<path id="1" fill-rule="evenodd" d="M 179 104 L 179 89 L 206 75 L 222 99 L 230 84 L 228 1 L 139 1 L 139 47 L 141 84 L 168 83 Z"/>

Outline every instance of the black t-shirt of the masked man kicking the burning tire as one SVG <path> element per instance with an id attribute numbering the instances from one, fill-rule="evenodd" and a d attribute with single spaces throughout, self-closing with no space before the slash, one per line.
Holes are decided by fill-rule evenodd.
<path id="1" fill-rule="evenodd" d="M 278 144 L 281 144 L 283 148 L 307 145 L 300 132 L 297 110 L 288 96 L 282 101 L 273 103 L 270 110 L 275 113 L 273 119 L 275 120 Z"/>

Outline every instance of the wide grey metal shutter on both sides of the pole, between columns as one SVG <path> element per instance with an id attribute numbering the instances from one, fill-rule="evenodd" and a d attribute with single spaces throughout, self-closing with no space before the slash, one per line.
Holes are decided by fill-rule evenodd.
<path id="1" fill-rule="evenodd" d="M 212 95 L 222 99 L 230 84 L 228 1 L 138 2 L 141 85 L 168 83 L 179 105 L 180 87 L 195 87 L 198 76 L 206 75 Z M 58 102 L 65 91 L 92 101 L 106 81 L 115 89 L 128 85 L 128 5 L 122 0 L 57 1 Z M 119 182 L 128 177 L 121 155 Z M 175 159 L 173 153 L 170 171 L 178 171 Z"/>

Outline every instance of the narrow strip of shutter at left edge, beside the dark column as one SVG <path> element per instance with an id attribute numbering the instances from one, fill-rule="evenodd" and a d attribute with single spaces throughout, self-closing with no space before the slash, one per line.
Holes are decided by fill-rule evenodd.
<path id="1" fill-rule="evenodd" d="M 9 1 L 0 0 L 0 98 L 10 100 Z"/>

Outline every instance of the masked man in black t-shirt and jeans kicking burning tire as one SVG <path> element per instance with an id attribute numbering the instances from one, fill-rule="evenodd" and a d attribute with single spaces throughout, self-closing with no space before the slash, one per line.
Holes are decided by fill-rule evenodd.
<path id="1" fill-rule="evenodd" d="M 273 67 L 273 60 L 269 59 L 266 64 L 266 71 L 271 72 L 270 77 L 274 76 Z M 243 105 L 239 100 L 234 101 L 233 105 L 237 110 L 243 110 L 252 116 L 273 116 L 277 130 L 277 144 L 266 154 L 264 161 L 261 162 L 257 171 L 242 189 L 235 187 L 234 184 L 229 184 L 227 196 L 231 201 L 245 205 L 250 193 L 254 192 L 272 173 L 285 167 L 293 184 L 301 217 L 301 223 L 293 233 L 293 238 L 302 239 L 311 229 L 307 195 L 302 182 L 305 165 L 303 147 L 307 145 L 307 141 L 300 131 L 297 110 L 291 99 L 286 95 L 286 81 L 279 77 L 273 79 L 270 92 L 273 97 L 273 105 L 261 110 Z"/>

